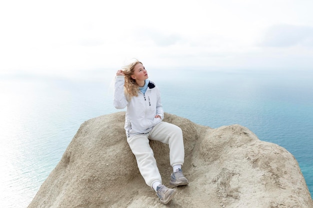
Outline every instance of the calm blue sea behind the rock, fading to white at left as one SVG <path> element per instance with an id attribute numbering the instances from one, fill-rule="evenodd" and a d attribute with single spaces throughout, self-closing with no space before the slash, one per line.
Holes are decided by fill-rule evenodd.
<path id="1" fill-rule="evenodd" d="M 312 70 L 146 68 L 165 112 L 211 128 L 239 124 L 285 148 L 313 195 Z M 112 105 L 115 73 L 1 74 L 1 207 L 29 205 L 84 121 L 123 111 Z"/>

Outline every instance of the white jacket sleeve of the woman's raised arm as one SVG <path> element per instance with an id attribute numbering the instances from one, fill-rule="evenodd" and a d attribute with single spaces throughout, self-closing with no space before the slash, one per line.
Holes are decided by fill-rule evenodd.
<path id="1" fill-rule="evenodd" d="M 113 105 L 116 109 L 123 109 L 127 106 L 128 101 L 124 94 L 125 78 L 122 75 L 118 75 L 115 78 L 114 84 L 114 100 Z"/>

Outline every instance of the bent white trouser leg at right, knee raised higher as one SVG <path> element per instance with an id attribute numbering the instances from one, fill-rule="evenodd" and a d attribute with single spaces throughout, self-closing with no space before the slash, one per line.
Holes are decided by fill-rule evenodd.
<path id="1" fill-rule="evenodd" d="M 169 162 L 171 166 L 182 165 L 184 147 L 181 129 L 173 124 L 161 122 L 149 132 L 149 139 L 160 141 L 169 146 Z"/>

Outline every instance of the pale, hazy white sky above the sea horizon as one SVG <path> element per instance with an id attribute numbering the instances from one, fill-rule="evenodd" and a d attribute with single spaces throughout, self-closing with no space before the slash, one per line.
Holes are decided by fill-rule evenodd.
<path id="1" fill-rule="evenodd" d="M 6 0 L 0 75 L 313 67 L 312 0 Z"/>

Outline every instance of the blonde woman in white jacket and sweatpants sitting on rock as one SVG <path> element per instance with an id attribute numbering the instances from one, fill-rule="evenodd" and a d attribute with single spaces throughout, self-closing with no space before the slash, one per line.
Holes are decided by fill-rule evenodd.
<path id="1" fill-rule="evenodd" d="M 113 104 L 117 109 L 127 107 L 124 128 L 139 172 L 145 183 L 155 190 L 160 203 L 167 204 L 176 192 L 162 185 L 149 139 L 169 144 L 169 160 L 173 167 L 169 184 L 183 186 L 188 184 L 188 180 L 181 170 L 184 161 L 182 131 L 162 121 L 164 112 L 159 90 L 148 80 L 141 62 L 136 60 L 124 66 L 123 70 L 117 70 Z"/>

